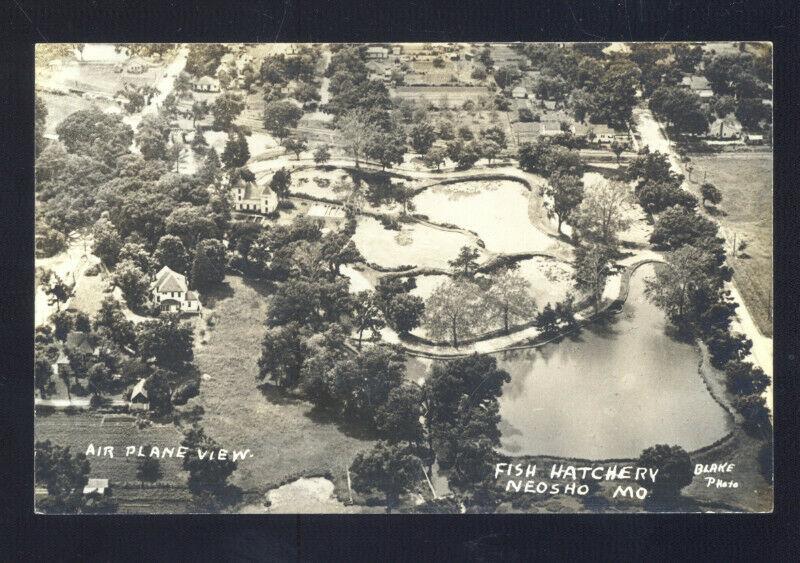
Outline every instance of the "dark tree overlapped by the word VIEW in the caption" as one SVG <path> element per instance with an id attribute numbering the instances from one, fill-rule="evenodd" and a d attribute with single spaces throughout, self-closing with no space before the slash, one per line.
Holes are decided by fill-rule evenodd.
<path id="1" fill-rule="evenodd" d="M 184 434 L 181 445 L 189 451 L 183 458 L 183 469 L 189 472 L 189 490 L 197 496 L 206 494 L 222 500 L 228 478 L 236 470 L 236 462 L 230 458 L 219 459 L 216 455 L 209 457 L 209 452 L 219 450 L 219 445 L 196 425 Z M 201 459 L 203 453 L 205 456 Z"/>

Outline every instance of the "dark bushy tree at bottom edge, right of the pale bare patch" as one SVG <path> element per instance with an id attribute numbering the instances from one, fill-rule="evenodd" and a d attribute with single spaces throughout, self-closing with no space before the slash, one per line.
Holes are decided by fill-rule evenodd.
<path id="1" fill-rule="evenodd" d="M 400 497 L 414 489 L 420 479 L 422 462 L 408 444 L 378 442 L 371 451 L 359 453 L 350 466 L 353 490 L 380 491 L 386 497 L 386 513 L 400 503 Z"/>

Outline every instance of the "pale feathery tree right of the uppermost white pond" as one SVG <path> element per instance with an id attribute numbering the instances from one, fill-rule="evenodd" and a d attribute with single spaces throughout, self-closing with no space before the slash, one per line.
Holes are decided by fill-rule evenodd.
<path id="1" fill-rule="evenodd" d="M 631 194 L 627 184 L 597 180 L 586 186 L 575 223 L 582 236 L 611 246 L 630 225 Z"/>

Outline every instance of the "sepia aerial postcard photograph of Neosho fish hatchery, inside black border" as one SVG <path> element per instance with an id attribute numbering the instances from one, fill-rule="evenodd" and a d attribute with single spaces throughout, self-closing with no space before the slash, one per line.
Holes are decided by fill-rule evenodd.
<path id="1" fill-rule="evenodd" d="M 34 70 L 37 513 L 772 512 L 772 43 Z"/>

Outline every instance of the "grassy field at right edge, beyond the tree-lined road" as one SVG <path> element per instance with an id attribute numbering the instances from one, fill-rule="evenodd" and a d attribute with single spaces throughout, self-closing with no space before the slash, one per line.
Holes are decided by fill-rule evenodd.
<path id="1" fill-rule="evenodd" d="M 734 279 L 759 330 L 772 336 L 772 153 L 692 156 L 691 164 L 695 189 L 706 181 L 722 192 L 718 218 L 729 243 L 734 234 L 737 246 L 747 242 L 732 262 Z"/>

